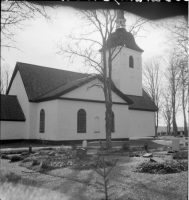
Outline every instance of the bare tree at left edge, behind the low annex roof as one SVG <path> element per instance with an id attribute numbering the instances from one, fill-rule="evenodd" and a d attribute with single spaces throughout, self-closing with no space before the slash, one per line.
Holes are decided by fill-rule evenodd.
<path id="1" fill-rule="evenodd" d="M 1 66 L 1 94 L 5 94 L 9 85 L 12 71 L 9 65 Z"/>

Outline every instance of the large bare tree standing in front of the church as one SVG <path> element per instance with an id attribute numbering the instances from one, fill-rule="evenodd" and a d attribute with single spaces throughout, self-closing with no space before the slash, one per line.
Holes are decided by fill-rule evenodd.
<path id="1" fill-rule="evenodd" d="M 59 55 L 68 57 L 70 61 L 73 61 L 76 56 L 82 57 L 85 66 L 100 74 L 103 84 L 96 82 L 91 87 L 97 86 L 104 92 L 107 148 L 111 147 L 112 61 L 124 46 L 122 37 L 116 42 L 113 42 L 111 38 L 116 25 L 116 15 L 117 12 L 113 10 L 80 10 L 79 16 L 83 22 L 80 31 L 82 29 L 84 33 L 80 36 L 72 33 L 67 37 L 66 43 L 57 44 Z M 147 21 L 143 20 L 143 23 Z M 137 21 L 130 30 L 135 31 L 136 35 L 143 23 L 141 20 Z"/>

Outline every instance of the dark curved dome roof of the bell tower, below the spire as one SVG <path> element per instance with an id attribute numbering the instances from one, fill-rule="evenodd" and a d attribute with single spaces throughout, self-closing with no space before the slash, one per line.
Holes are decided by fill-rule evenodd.
<path id="1" fill-rule="evenodd" d="M 124 28 L 116 29 L 116 31 L 111 33 L 107 39 L 107 49 L 117 46 L 125 46 L 126 48 L 143 52 L 143 50 L 136 44 L 134 36 Z M 100 52 L 101 51 L 102 49 Z"/>

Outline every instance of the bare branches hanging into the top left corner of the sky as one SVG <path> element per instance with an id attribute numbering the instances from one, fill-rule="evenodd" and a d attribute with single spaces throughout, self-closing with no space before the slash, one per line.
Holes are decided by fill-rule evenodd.
<path id="1" fill-rule="evenodd" d="M 44 6 L 29 1 L 1 1 L 1 47 L 20 50 L 16 46 L 15 35 L 25 28 L 26 21 L 34 19 L 37 14 L 50 19 Z"/>

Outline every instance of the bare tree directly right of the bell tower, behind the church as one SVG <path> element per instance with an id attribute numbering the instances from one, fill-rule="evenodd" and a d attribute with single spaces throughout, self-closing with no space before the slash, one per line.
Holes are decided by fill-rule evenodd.
<path id="1" fill-rule="evenodd" d="M 159 124 L 159 111 L 161 109 L 161 95 L 162 95 L 162 73 L 161 58 L 154 57 L 144 63 L 143 75 L 144 75 L 144 87 L 150 95 L 151 99 L 155 102 L 158 107 L 156 112 L 156 127 L 155 135 L 157 137 L 157 129 Z"/>

